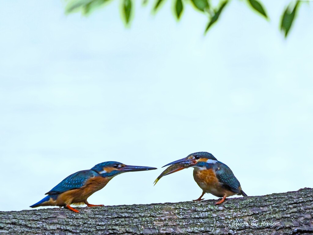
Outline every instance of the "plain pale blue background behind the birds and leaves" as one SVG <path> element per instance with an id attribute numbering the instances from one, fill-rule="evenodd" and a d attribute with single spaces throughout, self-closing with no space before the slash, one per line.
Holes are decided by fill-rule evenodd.
<path id="1" fill-rule="evenodd" d="M 115 160 L 161 166 L 197 151 L 227 164 L 249 195 L 313 187 L 313 14 L 264 0 L 270 22 L 232 1 L 205 16 L 170 1 L 125 29 L 115 1 L 85 18 L 60 1 L 0 8 L 0 210 L 29 209 L 66 176 Z M 190 201 L 192 170 L 116 176 L 89 199 L 119 205 Z M 217 199 L 206 194 L 206 199 Z M 193 202 L 191 202 L 193 203 Z"/>

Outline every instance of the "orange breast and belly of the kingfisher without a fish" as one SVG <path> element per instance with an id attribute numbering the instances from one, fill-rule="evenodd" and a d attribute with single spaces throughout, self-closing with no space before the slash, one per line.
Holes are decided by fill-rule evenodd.
<path id="1" fill-rule="evenodd" d="M 90 195 L 102 189 L 110 179 L 96 176 L 87 180 L 86 185 L 61 193 L 57 198 L 57 205 L 80 204 L 87 200 Z"/>

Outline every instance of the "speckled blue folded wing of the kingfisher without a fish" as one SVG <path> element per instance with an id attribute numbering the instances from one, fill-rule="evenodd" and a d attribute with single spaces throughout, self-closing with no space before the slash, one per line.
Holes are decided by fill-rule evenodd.
<path id="1" fill-rule="evenodd" d="M 59 194 L 68 190 L 78 189 L 86 184 L 86 181 L 90 178 L 99 175 L 93 170 L 81 170 L 72 175 L 69 175 L 64 180 L 62 180 L 58 185 L 51 189 L 46 194 L 54 195 Z"/>

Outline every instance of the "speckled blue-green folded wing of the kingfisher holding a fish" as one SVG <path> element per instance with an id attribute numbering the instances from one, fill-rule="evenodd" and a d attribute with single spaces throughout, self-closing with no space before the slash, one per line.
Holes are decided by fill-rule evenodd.
<path id="1" fill-rule="evenodd" d="M 214 164 L 214 168 L 218 181 L 223 183 L 225 188 L 236 193 L 241 193 L 239 189 L 240 183 L 227 165 L 218 162 L 217 164 Z"/>

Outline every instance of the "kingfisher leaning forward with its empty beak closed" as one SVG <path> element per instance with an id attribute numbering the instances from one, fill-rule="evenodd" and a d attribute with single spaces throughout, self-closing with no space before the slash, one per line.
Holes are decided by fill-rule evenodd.
<path id="1" fill-rule="evenodd" d="M 38 201 L 32 208 L 38 206 L 64 206 L 73 212 L 79 212 L 71 204 L 93 205 L 87 201 L 88 197 L 102 189 L 114 176 L 124 172 L 156 170 L 155 167 L 131 166 L 120 162 L 108 161 L 95 165 L 90 170 L 81 170 L 69 175 L 46 194 L 44 199 Z"/>

